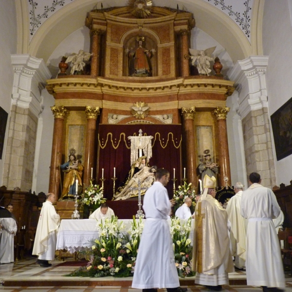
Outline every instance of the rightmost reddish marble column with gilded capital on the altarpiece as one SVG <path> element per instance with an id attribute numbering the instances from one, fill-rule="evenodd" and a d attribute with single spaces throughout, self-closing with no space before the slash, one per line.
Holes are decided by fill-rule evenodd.
<path id="1" fill-rule="evenodd" d="M 217 134 L 219 142 L 219 182 L 218 186 L 224 186 L 224 178 L 228 178 L 228 184 L 231 183 L 231 173 L 230 173 L 230 161 L 229 161 L 229 149 L 228 149 L 228 138 L 227 138 L 227 125 L 226 117 L 230 108 L 217 108 L 213 111 L 217 119 Z"/>

